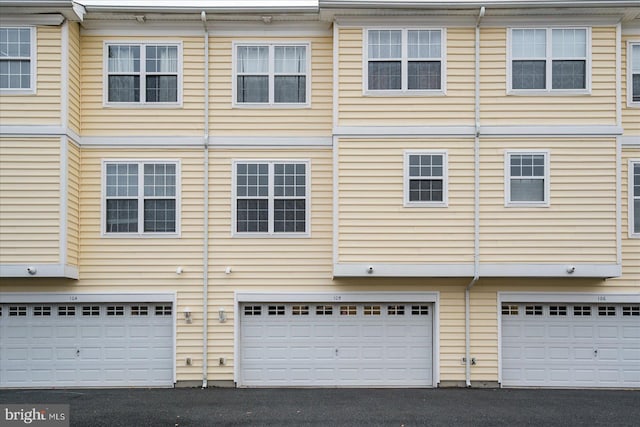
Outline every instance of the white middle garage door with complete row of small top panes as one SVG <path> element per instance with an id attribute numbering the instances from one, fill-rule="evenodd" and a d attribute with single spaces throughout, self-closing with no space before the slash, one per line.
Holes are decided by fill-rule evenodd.
<path id="1" fill-rule="evenodd" d="M 241 386 L 433 385 L 430 304 L 245 304 Z"/>

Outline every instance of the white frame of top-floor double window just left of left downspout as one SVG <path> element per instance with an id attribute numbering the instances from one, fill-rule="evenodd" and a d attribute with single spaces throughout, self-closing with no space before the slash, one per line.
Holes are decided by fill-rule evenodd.
<path id="1" fill-rule="evenodd" d="M 140 71 L 137 73 L 140 75 L 140 101 L 139 102 L 113 102 L 109 101 L 109 46 L 139 46 L 140 47 Z M 176 73 L 178 77 L 177 81 L 177 94 L 176 102 L 147 102 L 147 75 L 156 74 L 173 74 L 173 73 L 150 73 L 146 72 L 146 47 L 147 46 L 171 46 L 178 48 L 178 71 Z M 182 107 L 182 81 L 184 74 L 184 60 L 182 54 L 182 42 L 180 41 L 164 41 L 164 40 L 152 40 L 152 41 L 129 41 L 129 40 L 105 40 L 103 42 L 103 60 L 102 60 L 102 105 L 104 107 L 116 107 L 116 108 L 131 108 L 131 107 L 144 107 L 144 108 L 176 108 Z"/>

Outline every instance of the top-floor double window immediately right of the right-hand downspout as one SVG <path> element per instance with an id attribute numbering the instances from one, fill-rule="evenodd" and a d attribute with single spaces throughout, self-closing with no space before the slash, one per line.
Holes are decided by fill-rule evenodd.
<path id="1" fill-rule="evenodd" d="M 590 92 L 590 28 L 511 28 L 508 34 L 508 93 Z"/>

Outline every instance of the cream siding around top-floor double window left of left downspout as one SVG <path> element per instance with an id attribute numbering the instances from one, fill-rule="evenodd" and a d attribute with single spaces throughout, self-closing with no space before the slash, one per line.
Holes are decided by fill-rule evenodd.
<path id="1" fill-rule="evenodd" d="M 103 105 L 104 42 L 182 42 L 182 106 Z M 83 136 L 202 136 L 204 132 L 204 41 L 200 37 L 82 38 Z"/>

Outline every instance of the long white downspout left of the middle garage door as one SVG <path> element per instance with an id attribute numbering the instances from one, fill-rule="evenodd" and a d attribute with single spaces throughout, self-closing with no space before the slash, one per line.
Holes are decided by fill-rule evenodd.
<path id="1" fill-rule="evenodd" d="M 207 14 L 200 14 L 204 28 L 204 224 L 202 247 L 202 388 L 207 388 L 209 364 L 209 29 Z"/>

